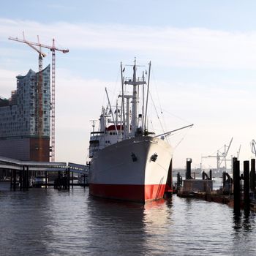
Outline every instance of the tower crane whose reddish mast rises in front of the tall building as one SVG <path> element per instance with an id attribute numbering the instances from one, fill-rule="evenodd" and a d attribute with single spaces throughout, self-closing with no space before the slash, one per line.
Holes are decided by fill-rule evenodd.
<path id="1" fill-rule="evenodd" d="M 23 42 L 26 43 L 26 45 L 29 45 L 31 48 L 37 51 L 39 53 L 38 57 L 38 82 L 37 82 L 37 97 L 36 97 L 36 108 L 35 108 L 35 130 L 36 134 L 39 138 L 39 161 L 42 161 L 42 58 L 46 56 L 45 53 L 42 53 L 41 48 L 37 49 L 34 47 L 34 45 L 27 41 L 25 39 L 25 35 L 23 32 L 23 39 L 18 39 L 17 37 L 9 37 L 10 40 L 14 40 L 17 42 Z M 37 40 L 39 42 L 39 37 L 37 36 Z"/>

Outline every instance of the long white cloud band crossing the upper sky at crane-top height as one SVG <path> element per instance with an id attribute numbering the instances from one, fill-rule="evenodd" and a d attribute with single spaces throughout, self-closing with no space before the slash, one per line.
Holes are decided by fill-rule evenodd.
<path id="1" fill-rule="evenodd" d="M 92 23 L 37 23 L 31 20 L 0 19 L 0 40 L 17 37 L 25 28 L 29 39 L 56 38 L 70 50 L 123 50 L 145 53 L 177 67 L 255 69 L 256 33 L 227 32 L 203 28 L 177 29 L 158 26 L 129 26 Z M 10 34 L 12 31 L 12 34 Z M 68 32 L 67 32 L 68 31 Z M 32 39 L 31 39 L 32 40 Z"/>

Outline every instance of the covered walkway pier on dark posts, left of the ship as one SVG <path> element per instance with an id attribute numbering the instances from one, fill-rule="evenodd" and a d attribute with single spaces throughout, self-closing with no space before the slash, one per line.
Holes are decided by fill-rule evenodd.
<path id="1" fill-rule="evenodd" d="M 0 171 L 1 176 L 9 176 L 6 181 L 10 182 L 10 189 L 14 191 L 28 190 L 32 186 L 70 189 L 88 185 L 89 166 L 72 162 L 34 162 L 0 157 Z M 80 183 L 74 183 L 74 173 L 80 176 Z M 49 175 L 53 176 L 53 182 L 49 182 Z"/>

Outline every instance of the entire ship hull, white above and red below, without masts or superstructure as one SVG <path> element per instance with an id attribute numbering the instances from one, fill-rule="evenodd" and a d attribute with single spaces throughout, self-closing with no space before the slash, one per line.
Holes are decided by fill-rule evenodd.
<path id="1" fill-rule="evenodd" d="M 162 198 L 172 154 L 165 140 L 144 136 L 103 148 L 91 159 L 90 194 L 142 203 Z"/>

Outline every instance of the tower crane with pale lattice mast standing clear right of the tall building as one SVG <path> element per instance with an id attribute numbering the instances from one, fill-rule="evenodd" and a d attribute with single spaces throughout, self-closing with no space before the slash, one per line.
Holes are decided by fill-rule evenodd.
<path id="1" fill-rule="evenodd" d="M 15 40 L 18 42 L 23 42 L 24 40 L 20 40 L 17 37 L 9 37 L 11 40 Z M 56 48 L 55 46 L 55 39 L 53 38 L 53 45 L 44 45 L 41 44 L 40 42 L 29 42 L 26 40 L 26 44 L 28 45 L 35 45 L 38 46 L 39 48 L 47 48 L 52 52 L 52 69 L 51 69 L 51 86 L 52 86 L 52 91 L 51 91 L 51 162 L 55 161 L 55 75 L 56 75 L 56 55 L 55 51 L 59 50 L 62 53 L 68 53 L 69 50 L 66 49 L 61 49 L 61 48 Z"/>

